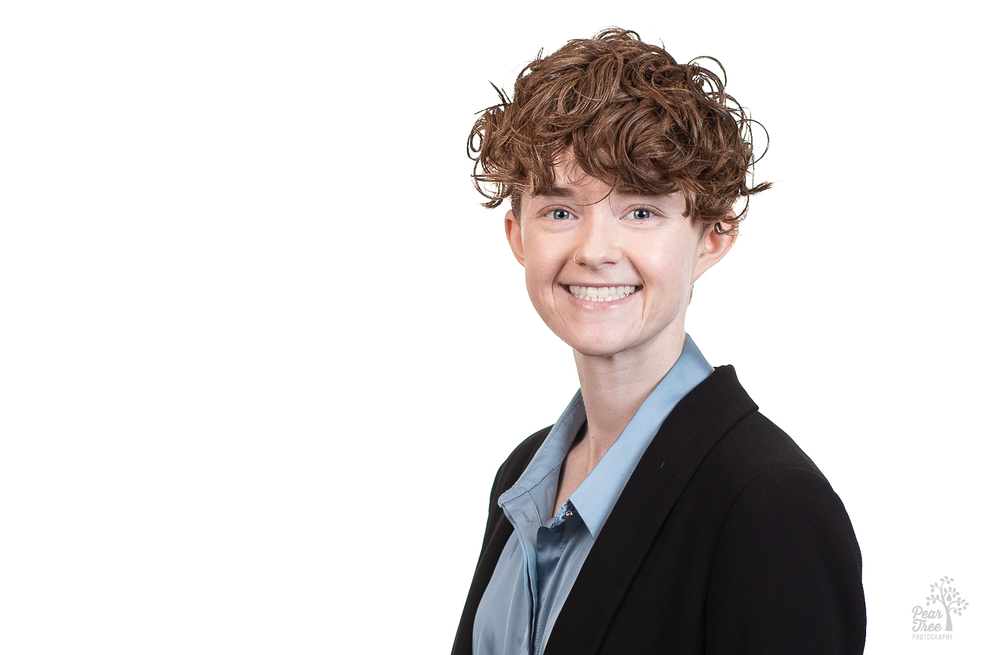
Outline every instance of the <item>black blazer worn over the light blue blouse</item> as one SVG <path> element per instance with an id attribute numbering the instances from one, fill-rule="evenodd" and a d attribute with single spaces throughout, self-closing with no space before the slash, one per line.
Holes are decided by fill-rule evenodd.
<path id="1" fill-rule="evenodd" d="M 497 507 L 550 428 L 501 465 L 453 644 L 513 528 Z M 544 655 L 860 653 L 861 554 L 831 485 L 722 366 L 662 424 L 595 541 Z"/>

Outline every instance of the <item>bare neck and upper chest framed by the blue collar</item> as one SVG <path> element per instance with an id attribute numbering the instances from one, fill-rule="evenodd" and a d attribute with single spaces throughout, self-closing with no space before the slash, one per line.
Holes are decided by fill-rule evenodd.
<path id="1" fill-rule="evenodd" d="M 584 446 L 591 462 L 598 462 L 609 450 L 684 348 L 682 330 L 642 352 L 602 357 L 576 353 L 587 416 Z"/>

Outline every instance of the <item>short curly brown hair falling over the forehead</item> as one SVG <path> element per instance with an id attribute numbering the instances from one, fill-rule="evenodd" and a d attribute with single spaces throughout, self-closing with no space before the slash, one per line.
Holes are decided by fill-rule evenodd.
<path id="1" fill-rule="evenodd" d="M 698 65 L 715 62 L 723 78 Z M 571 153 L 582 171 L 611 189 L 681 192 L 685 215 L 730 233 L 745 218 L 753 158 L 749 111 L 725 89 L 712 57 L 678 64 L 631 30 L 608 27 L 575 39 L 519 74 L 511 100 L 481 113 L 467 142 L 474 186 L 496 207 L 549 190 L 554 167 Z M 764 129 L 765 132 L 765 129 Z M 762 155 L 760 155 L 761 157 Z M 751 184 L 751 183 L 750 183 Z M 733 217 L 740 198 L 747 205 Z"/>

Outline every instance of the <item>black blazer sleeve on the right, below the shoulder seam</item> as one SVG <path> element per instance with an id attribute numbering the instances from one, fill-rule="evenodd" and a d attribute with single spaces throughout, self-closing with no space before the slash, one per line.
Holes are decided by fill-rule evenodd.
<path id="1" fill-rule="evenodd" d="M 861 554 L 845 507 L 805 467 L 753 480 L 722 528 L 709 582 L 708 655 L 861 653 Z"/>

